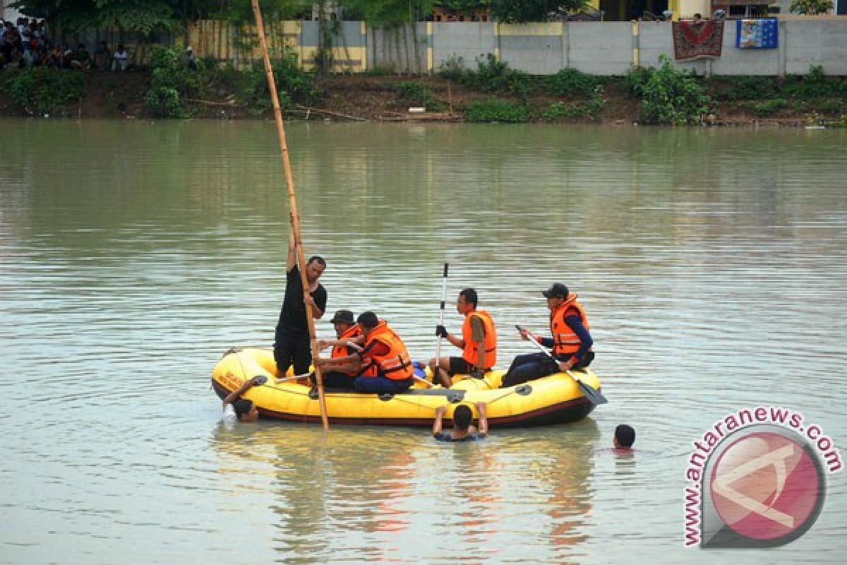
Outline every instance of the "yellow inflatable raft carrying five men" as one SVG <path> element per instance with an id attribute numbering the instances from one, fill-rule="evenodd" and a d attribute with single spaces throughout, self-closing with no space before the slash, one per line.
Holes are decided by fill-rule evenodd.
<path id="1" fill-rule="evenodd" d="M 573 374 L 600 389 L 600 381 L 590 369 Z M 212 386 L 224 398 L 245 379 L 258 375 L 268 377 L 268 382 L 253 387 L 244 397 L 252 400 L 262 417 L 320 422 L 319 402 L 309 398 L 308 383 L 305 379 L 280 379 L 270 349 L 248 347 L 225 352 L 212 372 Z M 594 409 L 567 374 L 551 374 L 501 389 L 502 376 L 503 371 L 493 370 L 484 379 L 461 379 L 449 389 L 429 387 L 418 380 L 414 388 L 394 395 L 328 388 L 324 390 L 327 417 L 329 424 L 429 426 L 436 407 L 447 406 L 445 418 L 450 419 L 455 407 L 468 404 L 475 418 L 475 404 L 485 402 L 491 427 L 524 427 L 575 422 Z"/>

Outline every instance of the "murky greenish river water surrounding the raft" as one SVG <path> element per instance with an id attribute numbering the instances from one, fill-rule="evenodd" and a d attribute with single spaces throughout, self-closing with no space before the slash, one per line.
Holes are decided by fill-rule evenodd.
<path id="1" fill-rule="evenodd" d="M 843 472 L 770 550 L 685 549 L 683 509 L 692 442 L 740 408 L 847 445 L 844 130 L 288 125 L 329 312 L 373 309 L 425 360 L 449 262 L 506 366 L 540 290 L 579 294 L 610 403 L 456 446 L 219 425 L 208 376 L 270 346 L 285 288 L 272 123 L 0 130 L 0 562 L 844 561 Z"/>

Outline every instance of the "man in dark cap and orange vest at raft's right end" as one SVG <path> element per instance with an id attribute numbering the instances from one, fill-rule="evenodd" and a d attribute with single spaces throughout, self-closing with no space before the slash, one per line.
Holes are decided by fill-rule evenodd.
<path id="1" fill-rule="evenodd" d="M 547 299 L 550 309 L 550 331 L 553 337 L 535 336 L 529 330 L 520 330 L 523 340 L 533 339 L 542 346 L 552 347 L 557 363 L 545 353 L 518 355 L 503 375 L 503 387 L 519 385 L 528 380 L 540 379 L 548 374 L 572 368 L 588 367 L 594 360 L 591 346 L 594 341 L 589 333 L 588 318 L 577 295 L 567 291 L 562 283 L 552 285 L 541 294 Z"/>

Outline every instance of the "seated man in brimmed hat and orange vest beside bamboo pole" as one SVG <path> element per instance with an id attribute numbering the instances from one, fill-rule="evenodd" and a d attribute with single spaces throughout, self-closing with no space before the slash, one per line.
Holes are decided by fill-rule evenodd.
<path id="1" fill-rule="evenodd" d="M 364 341 L 362 329 L 356 324 L 350 310 L 339 310 L 329 322 L 335 326 L 335 335 L 338 339 L 318 340 L 319 349 L 332 346 L 332 353 L 329 359 L 318 358 L 315 364 L 321 369 L 324 386 L 352 389 L 353 380 L 362 374 L 362 359 L 356 355 L 356 352 L 362 350 L 359 345 Z M 353 358 L 350 361 L 340 361 L 341 357 Z M 309 375 L 309 380 L 313 387 L 312 391 L 309 391 L 309 396 L 314 398 L 318 395 L 318 389 L 315 388 L 317 379 L 314 373 Z"/>

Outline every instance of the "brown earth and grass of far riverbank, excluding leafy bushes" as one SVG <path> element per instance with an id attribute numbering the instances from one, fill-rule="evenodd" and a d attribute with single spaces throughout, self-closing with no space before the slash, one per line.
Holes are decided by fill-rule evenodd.
<path id="1" fill-rule="evenodd" d="M 17 71 L 8 71 L 17 72 Z M 4 71 L 0 86 L 8 84 Z M 0 96 L 0 116 L 67 117 L 76 119 L 134 119 L 148 117 L 144 97 L 151 72 L 134 69 L 123 73 L 87 71 L 81 79 L 81 97 L 73 97 L 50 110 L 35 103 L 18 103 Z M 587 76 L 587 75 L 585 75 Z M 3 80 L 7 79 L 7 80 Z M 766 77 L 716 77 L 697 79 L 709 97 L 706 125 L 844 125 L 847 114 L 847 80 L 828 78 L 828 89 L 810 87 L 805 77 L 776 80 Z M 801 88 L 780 95 L 791 80 Z M 804 82 L 805 81 L 805 82 Z M 839 84 L 836 84 L 839 82 Z M 833 86 L 834 85 L 834 86 Z M 814 85 L 812 85 L 814 86 Z M 572 88 L 556 96 L 540 88 L 479 91 L 459 80 L 441 76 L 328 75 L 317 77 L 314 95 L 285 110 L 289 119 L 369 120 L 410 122 L 544 122 L 562 124 L 629 125 L 644 121 L 638 97 L 628 77 L 596 79 L 595 91 Z M 804 90 L 805 88 L 805 90 Z M 805 92 L 805 96 L 804 96 Z M 237 88 L 213 85 L 202 96 L 185 95 L 180 101 L 186 115 L 200 119 L 269 119 L 267 108 L 257 110 L 242 102 Z M 473 114 L 475 112 L 475 114 Z"/>

